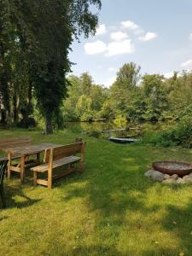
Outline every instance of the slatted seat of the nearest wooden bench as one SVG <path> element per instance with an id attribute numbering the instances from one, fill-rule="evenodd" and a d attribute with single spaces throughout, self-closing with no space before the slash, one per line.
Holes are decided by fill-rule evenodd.
<path id="1" fill-rule="evenodd" d="M 72 164 L 72 163 L 78 162 L 79 160 L 81 160 L 79 156 L 75 156 L 75 155 L 67 156 L 59 160 L 54 160 L 53 168 Z M 49 163 L 31 168 L 33 172 L 48 172 L 48 169 L 49 169 Z"/>

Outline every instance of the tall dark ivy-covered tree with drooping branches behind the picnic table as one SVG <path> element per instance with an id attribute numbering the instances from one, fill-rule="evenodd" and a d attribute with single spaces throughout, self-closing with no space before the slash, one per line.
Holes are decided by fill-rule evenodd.
<path id="1" fill-rule="evenodd" d="M 52 132 L 53 116 L 59 113 L 66 96 L 73 38 L 96 32 L 98 18 L 90 11 L 91 5 L 101 9 L 100 0 L 9 0 L 18 37 L 30 55 L 35 96 L 47 133 Z"/>

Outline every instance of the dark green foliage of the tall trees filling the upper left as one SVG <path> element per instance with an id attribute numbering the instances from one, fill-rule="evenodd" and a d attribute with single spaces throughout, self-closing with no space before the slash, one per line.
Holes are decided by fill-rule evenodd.
<path id="1" fill-rule="evenodd" d="M 73 38 L 79 39 L 82 33 L 87 38 L 96 32 L 98 16 L 91 11 L 94 5 L 101 9 L 102 3 L 100 0 L 2 1 L 0 98 L 3 121 L 8 122 L 3 119 L 3 112 L 9 113 L 11 120 L 12 107 L 13 121 L 19 121 L 21 95 L 27 102 L 22 122 L 27 122 L 32 88 L 38 109 L 44 116 L 46 130 L 52 131 L 53 119 L 61 120 L 60 107 L 67 93 L 66 75 L 72 64 L 68 59 L 70 45 Z M 9 88 L 9 84 L 13 84 L 14 90 Z"/>

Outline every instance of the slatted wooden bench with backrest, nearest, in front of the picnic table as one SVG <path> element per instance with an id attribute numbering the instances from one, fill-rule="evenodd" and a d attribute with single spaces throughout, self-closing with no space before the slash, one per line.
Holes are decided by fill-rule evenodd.
<path id="1" fill-rule="evenodd" d="M 54 179 L 63 177 L 74 171 L 83 172 L 85 145 L 85 142 L 80 141 L 57 148 L 46 149 L 44 164 L 31 168 L 31 171 L 33 172 L 34 185 L 36 186 L 37 184 L 41 184 L 51 189 L 52 181 Z M 79 165 L 74 166 L 74 164 L 77 163 L 79 163 Z M 67 169 L 64 171 L 59 170 L 56 174 L 54 174 L 53 170 L 61 166 L 67 166 Z M 39 179 L 38 172 L 47 172 L 47 179 Z"/>

